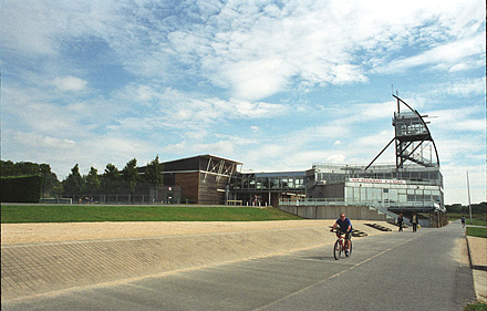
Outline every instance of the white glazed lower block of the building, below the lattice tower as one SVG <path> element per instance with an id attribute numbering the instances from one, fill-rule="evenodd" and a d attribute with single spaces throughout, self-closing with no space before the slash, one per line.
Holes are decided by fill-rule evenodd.
<path id="1" fill-rule="evenodd" d="M 335 188 L 341 185 L 343 197 Z M 431 210 L 444 208 L 443 175 L 438 167 L 410 165 L 362 166 L 315 164 L 307 172 L 310 198 L 336 199 L 349 204 L 382 206 L 387 209 Z"/>

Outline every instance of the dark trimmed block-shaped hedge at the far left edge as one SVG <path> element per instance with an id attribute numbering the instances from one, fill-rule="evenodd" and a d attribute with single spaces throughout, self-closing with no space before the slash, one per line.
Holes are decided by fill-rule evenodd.
<path id="1" fill-rule="evenodd" d="M 42 191 L 41 176 L 11 176 L 0 178 L 0 201 L 39 203 Z"/>

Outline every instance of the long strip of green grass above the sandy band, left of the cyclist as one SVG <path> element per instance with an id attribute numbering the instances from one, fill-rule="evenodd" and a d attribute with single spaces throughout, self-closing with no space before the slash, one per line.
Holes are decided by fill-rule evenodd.
<path id="1" fill-rule="evenodd" d="M 2 224 L 81 221 L 263 221 L 291 219 L 302 218 L 272 207 L 1 205 Z"/>

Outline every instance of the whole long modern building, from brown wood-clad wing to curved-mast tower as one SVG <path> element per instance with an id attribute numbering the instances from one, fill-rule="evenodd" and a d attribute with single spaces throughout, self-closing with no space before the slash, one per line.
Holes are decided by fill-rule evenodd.
<path id="1" fill-rule="evenodd" d="M 443 175 L 427 116 L 393 96 L 397 100 L 394 137 L 369 165 L 313 164 L 300 172 L 241 173 L 240 162 L 199 155 L 164 163 L 164 186 L 180 188 L 177 203 L 343 205 L 406 215 L 444 212 Z M 391 146 L 395 164 L 374 164 Z"/>

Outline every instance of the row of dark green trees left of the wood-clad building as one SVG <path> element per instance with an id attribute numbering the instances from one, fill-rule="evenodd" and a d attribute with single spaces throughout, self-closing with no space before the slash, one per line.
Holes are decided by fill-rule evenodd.
<path id="1" fill-rule="evenodd" d="M 139 183 L 153 186 L 163 185 L 163 164 L 159 163 L 158 156 L 147 164 L 143 174 L 138 170 L 135 158 L 128 160 L 122 170 L 108 163 L 103 174 L 99 174 L 96 168 L 91 167 L 87 175 L 82 175 L 76 164 L 62 182 L 51 172 L 49 164 L 1 160 L 0 169 L 2 177 L 41 176 L 43 179 L 42 198 L 93 196 L 101 193 L 108 195 L 111 191 L 120 190 L 134 194 Z"/>

